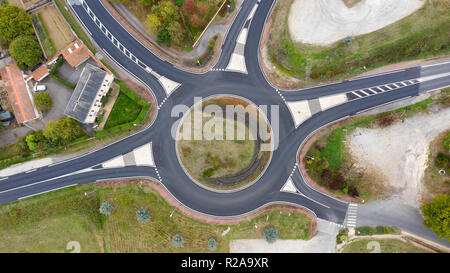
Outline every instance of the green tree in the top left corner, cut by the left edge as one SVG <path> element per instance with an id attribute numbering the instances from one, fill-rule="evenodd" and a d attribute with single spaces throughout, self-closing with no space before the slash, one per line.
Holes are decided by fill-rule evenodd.
<path id="1" fill-rule="evenodd" d="M 0 5 L 0 37 L 10 43 L 21 35 L 34 35 L 31 16 L 16 6 Z"/>

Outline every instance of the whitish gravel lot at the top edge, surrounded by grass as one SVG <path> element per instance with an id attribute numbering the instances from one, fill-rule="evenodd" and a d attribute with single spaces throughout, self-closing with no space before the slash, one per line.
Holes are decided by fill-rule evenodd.
<path id="1" fill-rule="evenodd" d="M 418 10 L 424 0 L 295 0 L 288 17 L 292 40 L 329 45 L 348 36 L 376 31 Z"/>

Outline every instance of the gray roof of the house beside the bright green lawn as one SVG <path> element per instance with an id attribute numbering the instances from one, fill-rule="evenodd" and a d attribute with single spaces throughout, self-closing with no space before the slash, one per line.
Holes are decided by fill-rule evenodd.
<path id="1" fill-rule="evenodd" d="M 81 72 L 64 114 L 84 122 L 107 75 L 101 68 L 87 63 Z"/>

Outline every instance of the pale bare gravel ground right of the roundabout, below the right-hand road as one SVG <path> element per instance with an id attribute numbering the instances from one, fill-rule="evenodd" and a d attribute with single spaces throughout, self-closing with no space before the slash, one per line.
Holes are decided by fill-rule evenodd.
<path id="1" fill-rule="evenodd" d="M 347 138 L 355 167 L 374 171 L 392 188 L 387 199 L 420 206 L 430 142 L 450 128 L 450 108 L 419 113 L 376 129 L 357 128 Z"/>

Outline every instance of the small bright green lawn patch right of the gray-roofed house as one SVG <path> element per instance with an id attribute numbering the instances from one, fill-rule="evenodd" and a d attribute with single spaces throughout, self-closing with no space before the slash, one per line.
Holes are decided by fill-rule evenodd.
<path id="1" fill-rule="evenodd" d="M 136 120 L 141 110 L 141 105 L 137 104 L 123 92 L 120 92 L 111 110 L 111 114 L 106 121 L 105 129 Z"/>

